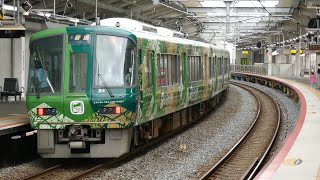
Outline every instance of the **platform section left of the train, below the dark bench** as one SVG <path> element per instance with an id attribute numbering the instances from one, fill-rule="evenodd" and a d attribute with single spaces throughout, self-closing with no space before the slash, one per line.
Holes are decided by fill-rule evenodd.
<path id="1" fill-rule="evenodd" d="M 30 129 L 25 101 L 0 103 L 0 136 Z"/>

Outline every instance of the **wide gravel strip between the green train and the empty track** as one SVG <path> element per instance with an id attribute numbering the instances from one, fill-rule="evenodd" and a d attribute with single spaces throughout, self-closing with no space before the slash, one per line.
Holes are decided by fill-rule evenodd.
<path id="1" fill-rule="evenodd" d="M 100 171 L 92 179 L 192 179 L 213 156 L 231 148 L 251 125 L 256 101 L 231 85 L 219 108 L 201 122 L 122 165 Z"/>

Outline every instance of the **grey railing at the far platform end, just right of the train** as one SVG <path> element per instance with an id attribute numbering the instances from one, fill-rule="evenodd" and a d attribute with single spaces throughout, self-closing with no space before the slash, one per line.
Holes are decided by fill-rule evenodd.
<path id="1" fill-rule="evenodd" d="M 267 67 L 265 65 L 240 65 L 231 64 L 232 72 L 246 72 L 252 74 L 267 75 Z"/>

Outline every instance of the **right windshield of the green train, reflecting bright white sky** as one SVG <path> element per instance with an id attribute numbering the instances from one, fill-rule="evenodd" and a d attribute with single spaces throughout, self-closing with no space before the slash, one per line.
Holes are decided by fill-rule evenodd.
<path id="1" fill-rule="evenodd" d="M 135 45 L 124 37 L 97 35 L 94 66 L 95 87 L 135 84 Z"/>

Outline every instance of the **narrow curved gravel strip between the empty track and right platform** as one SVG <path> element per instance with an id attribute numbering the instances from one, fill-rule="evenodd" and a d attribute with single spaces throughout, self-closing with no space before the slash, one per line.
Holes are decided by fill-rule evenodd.
<path id="1" fill-rule="evenodd" d="M 268 93 L 271 95 L 276 102 L 280 105 L 281 109 L 281 123 L 280 128 L 278 132 L 278 136 L 276 138 L 276 141 L 273 145 L 273 147 L 270 150 L 269 156 L 267 157 L 267 160 L 274 155 L 275 152 L 279 148 L 282 147 L 285 138 L 291 133 L 293 130 L 296 120 L 299 117 L 300 112 L 300 105 L 299 102 L 293 101 L 287 94 L 282 93 L 282 91 L 278 89 L 272 89 L 268 86 L 263 86 L 256 83 L 246 82 L 246 81 L 235 81 L 240 82 L 242 84 L 246 84 L 252 87 L 255 87 L 257 89 L 262 90 L 263 92 Z"/>

